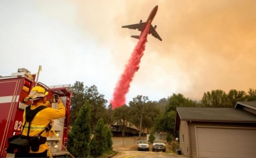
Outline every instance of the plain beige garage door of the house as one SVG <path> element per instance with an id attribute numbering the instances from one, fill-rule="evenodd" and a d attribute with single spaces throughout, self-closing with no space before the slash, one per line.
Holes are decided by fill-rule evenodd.
<path id="1" fill-rule="evenodd" d="M 256 129 L 196 127 L 198 157 L 256 157 Z"/>

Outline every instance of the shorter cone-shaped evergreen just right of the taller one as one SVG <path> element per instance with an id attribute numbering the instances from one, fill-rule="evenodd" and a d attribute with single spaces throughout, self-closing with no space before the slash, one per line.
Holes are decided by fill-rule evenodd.
<path id="1" fill-rule="evenodd" d="M 107 131 L 103 119 L 99 119 L 95 126 L 94 136 L 90 143 L 90 155 L 99 157 L 108 150 Z"/>

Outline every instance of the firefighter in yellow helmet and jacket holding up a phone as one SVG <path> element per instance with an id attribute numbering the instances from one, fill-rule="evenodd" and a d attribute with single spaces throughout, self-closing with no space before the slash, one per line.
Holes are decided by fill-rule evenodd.
<path id="1" fill-rule="evenodd" d="M 26 97 L 29 101 L 33 101 L 33 104 L 31 104 L 30 109 L 35 110 L 38 106 L 49 106 L 51 103 L 47 101 L 47 94 L 48 92 L 40 87 L 36 86 L 31 89 L 31 92 L 29 93 L 29 96 Z M 58 109 L 54 108 L 44 108 L 43 110 L 36 113 L 34 119 L 31 121 L 31 126 L 29 129 L 29 137 L 38 136 L 42 131 L 44 131 L 45 127 L 49 126 L 49 122 L 54 119 L 59 119 L 61 117 L 65 116 L 65 106 L 61 102 L 60 97 L 58 96 Z M 23 125 L 26 120 L 26 110 L 24 110 L 23 113 Z M 22 132 L 22 136 L 27 136 L 28 134 L 28 126 L 29 123 L 26 122 L 26 125 L 24 126 L 24 130 Z M 23 126 L 22 126 L 23 127 Z M 44 131 L 41 136 L 43 136 L 46 140 L 48 132 Z M 28 154 L 21 155 L 19 152 L 15 154 L 15 157 L 47 157 L 47 151 L 49 150 L 49 147 L 47 145 L 47 141 L 45 141 L 44 144 L 41 144 L 39 146 L 39 150 L 36 152 L 33 152 L 31 149 Z"/>

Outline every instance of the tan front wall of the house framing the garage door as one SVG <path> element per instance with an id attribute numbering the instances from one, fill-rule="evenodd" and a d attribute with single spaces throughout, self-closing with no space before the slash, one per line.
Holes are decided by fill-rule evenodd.
<path id="1" fill-rule="evenodd" d="M 183 122 L 183 121 L 182 121 Z M 187 123 L 187 127 L 189 127 L 189 133 L 190 133 L 190 150 L 189 152 L 191 152 L 191 155 L 189 155 L 189 157 L 197 157 L 197 153 L 196 153 L 196 132 L 195 132 L 195 126 L 216 126 L 216 127 L 256 127 L 256 124 L 245 124 L 245 123 L 241 123 L 241 124 L 237 124 L 237 123 L 214 123 L 214 122 L 209 122 L 209 123 L 205 123 L 205 122 L 188 122 Z M 185 127 L 183 127 L 185 128 Z M 181 127 L 180 127 L 181 129 Z M 183 154 L 184 155 L 184 154 Z"/>

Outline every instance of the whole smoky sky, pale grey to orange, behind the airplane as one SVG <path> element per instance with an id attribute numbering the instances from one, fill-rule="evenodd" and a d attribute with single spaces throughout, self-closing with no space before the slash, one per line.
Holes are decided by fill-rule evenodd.
<path id="1" fill-rule="evenodd" d="M 138 42 L 131 35 L 140 35 L 121 27 L 145 22 L 158 5 L 152 25 L 163 41 L 148 35 L 126 101 L 138 95 L 157 101 L 173 93 L 201 99 L 211 90 L 248 92 L 256 87 L 254 0 L 0 3 L 0 75 L 17 68 L 36 72 L 42 65 L 43 83 L 96 85 L 110 101 Z M 40 60 L 28 62 L 28 57 Z M 56 76 L 52 68 L 60 63 Z"/>

